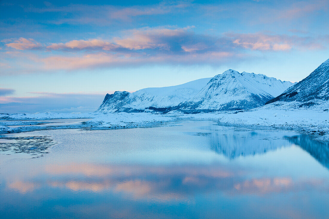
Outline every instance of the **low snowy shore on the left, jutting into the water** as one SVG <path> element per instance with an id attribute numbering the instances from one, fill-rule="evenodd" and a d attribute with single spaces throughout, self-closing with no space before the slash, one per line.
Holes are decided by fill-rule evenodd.
<path id="1" fill-rule="evenodd" d="M 46 114 L 47 115 L 47 114 Z M 128 128 L 148 128 L 163 125 L 164 122 L 177 121 L 175 116 L 152 113 L 49 113 L 49 117 L 39 114 L 12 114 L 0 117 L 0 134 L 32 132 L 55 129 L 88 129 L 88 130 L 108 130 L 108 129 L 128 129 Z M 21 116 L 21 117 L 20 117 Z M 15 119 L 14 119 L 15 118 Z M 79 124 L 62 124 L 61 119 L 89 119 Z M 47 120 L 47 122 L 37 121 Z M 53 121 L 57 120 L 57 121 Z M 29 124 L 28 121 L 31 121 Z M 58 123 L 58 125 L 48 125 L 48 123 Z M 10 124 L 10 125 L 8 125 Z M 7 125 L 7 126 L 6 126 Z M 13 127 L 12 127 L 13 126 Z"/>

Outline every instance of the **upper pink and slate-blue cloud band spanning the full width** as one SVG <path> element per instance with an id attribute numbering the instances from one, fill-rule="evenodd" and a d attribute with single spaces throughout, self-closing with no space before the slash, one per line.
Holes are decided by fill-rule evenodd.
<path id="1" fill-rule="evenodd" d="M 123 37 L 104 39 L 71 40 L 66 43 L 41 44 L 23 37 L 7 43 L 8 47 L 18 50 L 92 50 L 92 51 L 170 51 L 170 52 L 209 52 L 232 51 L 235 48 L 247 50 L 285 51 L 301 48 L 323 48 L 328 43 L 327 37 L 300 37 L 297 35 L 279 35 L 272 33 L 224 33 L 221 36 L 196 34 L 192 27 L 186 28 L 140 28 L 123 32 Z M 121 49 L 121 50 L 120 50 Z M 125 49 L 125 50 L 122 50 Z"/>

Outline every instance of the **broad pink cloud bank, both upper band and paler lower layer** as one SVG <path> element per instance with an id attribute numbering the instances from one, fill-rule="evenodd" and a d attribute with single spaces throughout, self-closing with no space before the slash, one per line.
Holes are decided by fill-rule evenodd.
<path id="1" fill-rule="evenodd" d="M 45 55 L 28 52 L 15 54 L 24 69 L 75 70 L 142 64 L 220 64 L 248 57 L 247 51 L 290 51 L 321 49 L 329 42 L 326 37 L 299 37 L 270 33 L 226 33 L 221 36 L 196 34 L 186 28 L 141 28 L 123 32 L 110 40 L 88 39 L 52 43 L 44 48 Z M 41 48 L 32 39 L 21 40 L 17 49 Z M 21 43 L 25 42 L 26 46 Z M 7 45 L 12 46 L 9 43 Z M 25 45 L 24 44 L 24 45 Z M 29 46 L 32 44 L 32 46 Z M 45 43 L 46 44 L 46 43 Z M 52 55 L 52 50 L 62 50 Z M 67 55 L 67 50 L 81 50 Z M 48 53 L 48 54 L 46 54 Z"/>

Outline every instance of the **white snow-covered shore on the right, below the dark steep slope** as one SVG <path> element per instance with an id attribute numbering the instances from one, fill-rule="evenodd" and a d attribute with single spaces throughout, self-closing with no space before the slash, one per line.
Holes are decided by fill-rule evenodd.
<path id="1" fill-rule="evenodd" d="M 321 141 L 329 141 L 328 111 L 285 110 L 264 113 L 262 109 L 244 112 L 199 113 L 183 115 L 182 118 L 214 120 L 228 126 L 243 126 L 254 129 L 285 129 L 301 134 L 310 134 Z M 327 121 L 326 121 L 327 120 Z"/>

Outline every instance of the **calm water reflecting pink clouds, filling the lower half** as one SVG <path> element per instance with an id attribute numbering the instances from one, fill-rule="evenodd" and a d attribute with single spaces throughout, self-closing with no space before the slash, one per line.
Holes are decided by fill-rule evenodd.
<path id="1" fill-rule="evenodd" d="M 0 135 L 1 218 L 328 218 L 328 144 L 172 125 Z"/>

